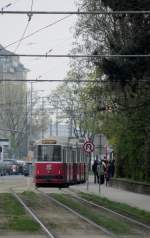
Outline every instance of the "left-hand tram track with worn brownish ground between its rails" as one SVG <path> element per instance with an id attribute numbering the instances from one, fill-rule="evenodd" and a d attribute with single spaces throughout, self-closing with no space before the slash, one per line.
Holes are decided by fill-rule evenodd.
<path id="1" fill-rule="evenodd" d="M 38 190 L 37 205 L 34 198 L 24 194 L 13 196 L 20 202 L 28 213 L 39 223 L 46 237 L 49 238 L 109 238 L 116 237 L 110 231 L 84 218 L 77 212 L 69 209 L 53 197 Z M 41 205 L 42 201 L 42 205 Z M 55 219 L 55 220 L 54 220 Z M 52 222 L 53 221 L 53 222 Z M 57 224 L 57 225 L 56 225 Z M 62 227 L 63 224 L 63 227 Z"/>

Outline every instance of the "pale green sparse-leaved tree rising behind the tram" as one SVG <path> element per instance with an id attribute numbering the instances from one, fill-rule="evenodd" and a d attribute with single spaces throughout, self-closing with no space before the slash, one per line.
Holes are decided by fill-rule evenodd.
<path id="1" fill-rule="evenodd" d="M 98 105 L 94 103 L 99 94 L 97 88 L 101 86 L 94 83 L 96 77 L 94 72 L 84 75 L 87 77 L 87 83 L 78 80 L 79 77 L 78 72 L 70 70 L 66 81 L 50 95 L 50 103 L 54 108 L 58 108 L 62 118 L 71 119 L 76 137 L 93 140 L 100 127 L 98 114 L 104 110 L 103 101 L 99 99 Z M 82 79 L 85 80 L 84 77 Z M 93 83 L 88 83 L 88 78 Z"/>

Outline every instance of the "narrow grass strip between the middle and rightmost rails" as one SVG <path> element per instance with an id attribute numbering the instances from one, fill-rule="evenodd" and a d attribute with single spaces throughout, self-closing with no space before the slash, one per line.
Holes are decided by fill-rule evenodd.
<path id="1" fill-rule="evenodd" d="M 73 199 L 66 197 L 65 195 L 53 194 L 53 197 L 55 197 L 63 204 L 69 206 L 70 208 L 78 211 L 81 215 L 109 229 L 115 234 L 128 234 L 130 232 L 129 225 L 121 220 L 111 218 L 108 215 L 100 213 L 99 211 L 95 211 L 95 209 L 89 209 L 88 207 L 86 207 L 86 205 L 84 206 L 80 202 L 76 202 Z"/>

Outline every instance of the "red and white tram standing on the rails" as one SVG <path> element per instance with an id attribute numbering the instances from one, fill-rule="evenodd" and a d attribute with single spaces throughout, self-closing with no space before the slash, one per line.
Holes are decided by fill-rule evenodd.
<path id="1" fill-rule="evenodd" d="M 81 145 L 43 139 L 34 150 L 36 187 L 68 187 L 86 181 L 87 158 Z"/>

